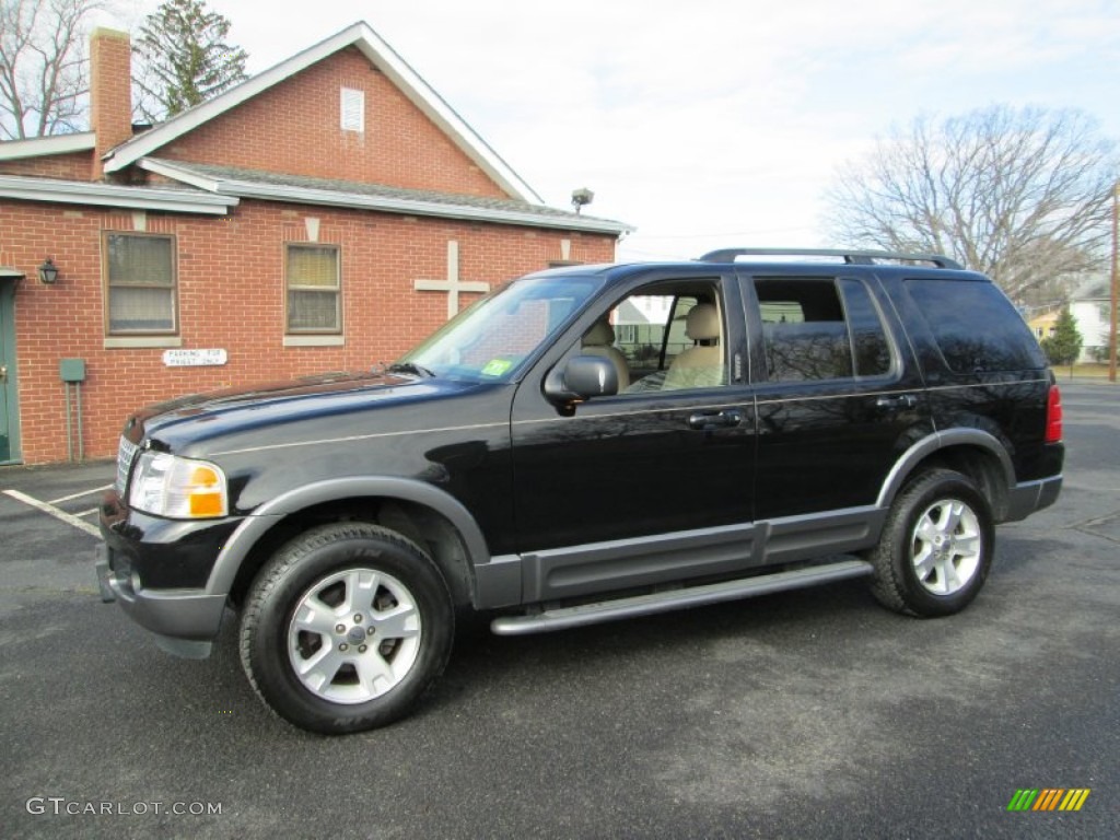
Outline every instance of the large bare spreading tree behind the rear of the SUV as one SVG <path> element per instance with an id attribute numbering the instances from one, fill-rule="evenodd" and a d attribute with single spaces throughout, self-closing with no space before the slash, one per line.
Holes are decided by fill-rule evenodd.
<path id="1" fill-rule="evenodd" d="M 827 194 L 846 244 L 933 251 L 1024 302 L 1107 251 L 1116 146 L 1079 111 L 992 106 L 895 129 Z"/>

